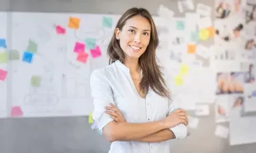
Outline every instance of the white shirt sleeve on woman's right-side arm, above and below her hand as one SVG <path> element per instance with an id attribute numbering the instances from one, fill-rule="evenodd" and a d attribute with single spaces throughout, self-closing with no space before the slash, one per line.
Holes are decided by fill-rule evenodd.
<path id="1" fill-rule="evenodd" d="M 180 108 L 180 103 L 181 101 L 179 97 L 177 97 L 177 95 L 172 95 L 171 100 L 169 100 L 169 106 L 168 106 L 169 114 L 175 111 L 175 109 Z M 176 139 L 182 139 L 186 137 L 186 135 L 188 134 L 187 126 L 185 126 L 185 124 L 182 124 L 182 123 L 177 124 L 176 126 L 172 127 L 170 130 L 173 131 Z"/>

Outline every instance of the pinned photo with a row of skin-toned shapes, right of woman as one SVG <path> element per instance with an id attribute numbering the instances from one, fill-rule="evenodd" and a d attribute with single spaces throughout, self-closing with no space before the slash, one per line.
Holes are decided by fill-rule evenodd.
<path id="1" fill-rule="evenodd" d="M 217 90 L 216 95 L 243 93 L 243 73 L 230 72 L 230 73 L 217 73 L 216 82 Z"/>

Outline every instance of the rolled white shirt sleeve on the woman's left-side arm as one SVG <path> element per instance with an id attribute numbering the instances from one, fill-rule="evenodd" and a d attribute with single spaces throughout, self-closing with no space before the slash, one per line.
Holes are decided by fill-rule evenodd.
<path id="1" fill-rule="evenodd" d="M 109 103 L 114 104 L 111 86 L 109 85 L 109 80 L 106 79 L 100 70 L 94 70 L 91 73 L 90 86 L 91 97 L 94 101 L 92 118 L 98 130 L 102 133 L 104 126 L 113 121 L 109 114 L 104 113 L 105 107 L 109 106 Z"/>

